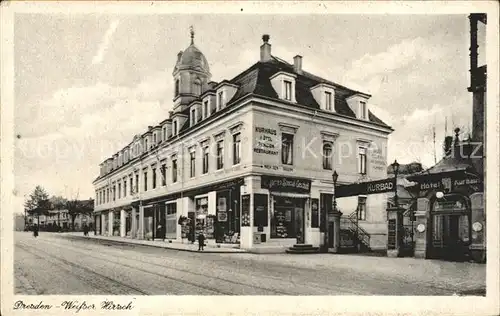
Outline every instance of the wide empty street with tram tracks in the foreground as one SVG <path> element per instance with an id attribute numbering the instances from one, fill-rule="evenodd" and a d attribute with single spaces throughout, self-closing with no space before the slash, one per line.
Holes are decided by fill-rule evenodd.
<path id="1" fill-rule="evenodd" d="M 453 295 L 484 293 L 485 270 L 473 263 L 194 253 L 15 233 L 17 294 Z"/>

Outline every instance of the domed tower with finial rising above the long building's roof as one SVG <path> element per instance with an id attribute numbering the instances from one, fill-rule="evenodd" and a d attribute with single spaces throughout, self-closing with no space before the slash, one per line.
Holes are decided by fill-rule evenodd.
<path id="1" fill-rule="evenodd" d="M 212 75 L 205 55 L 194 45 L 194 30 L 190 28 L 191 45 L 177 54 L 174 72 L 174 112 L 185 106 L 207 90 Z"/>

